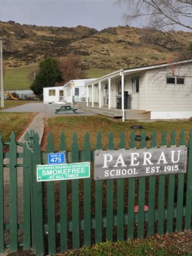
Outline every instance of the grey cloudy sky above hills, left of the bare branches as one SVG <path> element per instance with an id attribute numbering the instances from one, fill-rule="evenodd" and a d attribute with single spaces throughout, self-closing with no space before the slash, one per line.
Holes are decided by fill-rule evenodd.
<path id="1" fill-rule="evenodd" d="M 123 20 L 126 10 L 127 6 L 118 5 L 117 0 L 0 0 L 0 21 L 38 26 L 82 25 L 100 31 L 126 25 Z"/>

